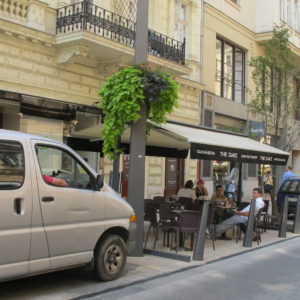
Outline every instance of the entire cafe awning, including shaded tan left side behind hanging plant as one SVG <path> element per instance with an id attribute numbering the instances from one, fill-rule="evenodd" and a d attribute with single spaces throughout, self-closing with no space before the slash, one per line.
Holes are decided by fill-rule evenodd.
<path id="1" fill-rule="evenodd" d="M 101 140 L 102 129 L 103 125 L 100 124 L 77 131 L 72 136 Z M 125 129 L 121 142 L 125 150 L 128 150 L 130 126 Z M 186 157 L 187 150 L 190 150 L 190 157 L 193 159 L 276 165 L 286 165 L 289 157 L 289 153 L 245 135 L 178 122 L 153 125 L 146 144 L 146 155 L 154 156 Z"/>

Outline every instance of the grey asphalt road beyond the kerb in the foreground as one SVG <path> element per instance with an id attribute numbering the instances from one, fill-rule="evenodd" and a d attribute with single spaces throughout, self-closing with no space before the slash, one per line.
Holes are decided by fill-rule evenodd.
<path id="1" fill-rule="evenodd" d="M 103 299 L 300 299 L 300 239 L 95 295 Z"/>

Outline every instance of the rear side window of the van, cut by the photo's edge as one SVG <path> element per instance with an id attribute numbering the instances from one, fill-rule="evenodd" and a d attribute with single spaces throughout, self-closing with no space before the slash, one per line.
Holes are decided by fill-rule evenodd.
<path id="1" fill-rule="evenodd" d="M 24 181 L 24 152 L 22 145 L 0 141 L 0 190 L 19 188 Z"/>

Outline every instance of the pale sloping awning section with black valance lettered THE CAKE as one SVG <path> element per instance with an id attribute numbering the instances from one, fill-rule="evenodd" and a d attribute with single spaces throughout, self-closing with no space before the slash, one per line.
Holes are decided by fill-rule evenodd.
<path id="1" fill-rule="evenodd" d="M 240 134 L 167 123 L 161 129 L 171 132 L 190 144 L 190 157 L 256 164 L 286 165 L 289 153 L 259 143 Z"/>

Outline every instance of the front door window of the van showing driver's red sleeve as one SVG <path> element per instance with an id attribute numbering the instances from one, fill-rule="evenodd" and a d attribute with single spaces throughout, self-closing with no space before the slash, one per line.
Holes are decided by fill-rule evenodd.
<path id="1" fill-rule="evenodd" d="M 90 189 L 90 174 L 67 151 L 45 145 L 36 146 L 42 177 L 49 185 Z"/>

